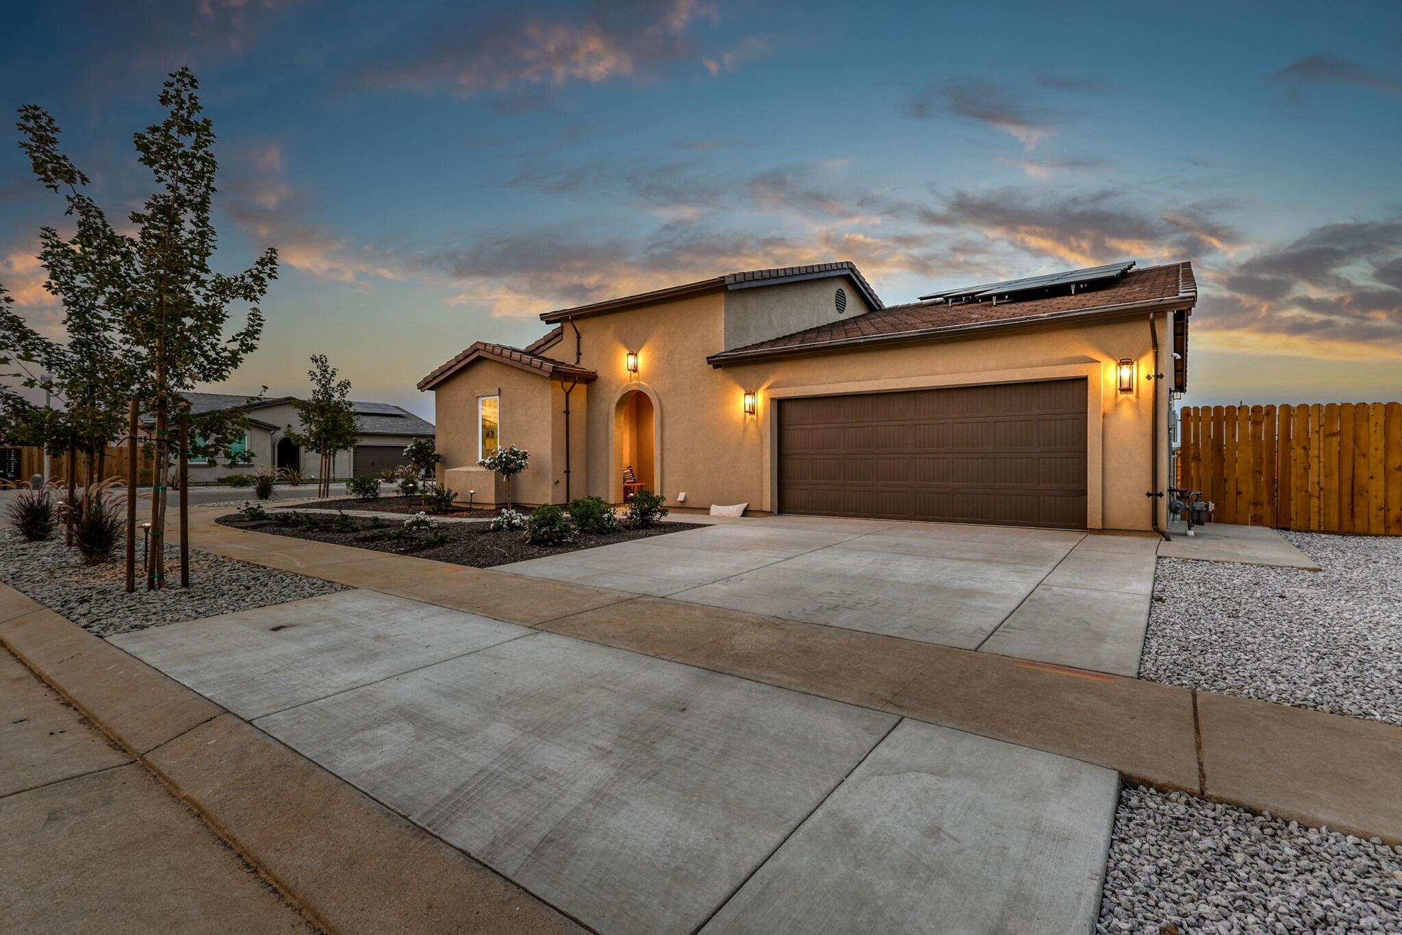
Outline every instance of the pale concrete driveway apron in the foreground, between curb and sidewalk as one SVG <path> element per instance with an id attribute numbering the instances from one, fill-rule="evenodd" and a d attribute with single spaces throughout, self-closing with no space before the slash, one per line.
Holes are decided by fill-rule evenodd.
<path id="1" fill-rule="evenodd" d="M 1098 914 L 1117 777 L 1066 757 L 365 590 L 111 642 L 594 931 Z"/>

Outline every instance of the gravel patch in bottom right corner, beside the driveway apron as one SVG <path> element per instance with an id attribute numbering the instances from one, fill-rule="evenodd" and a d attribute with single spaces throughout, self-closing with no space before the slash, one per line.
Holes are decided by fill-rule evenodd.
<path id="1" fill-rule="evenodd" d="M 1096 932 L 1402 932 L 1402 848 L 1127 788 Z"/>

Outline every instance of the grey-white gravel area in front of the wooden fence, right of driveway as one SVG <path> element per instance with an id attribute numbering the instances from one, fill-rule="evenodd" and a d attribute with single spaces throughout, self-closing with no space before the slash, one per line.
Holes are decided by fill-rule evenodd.
<path id="1" fill-rule="evenodd" d="M 1140 677 L 1402 725 L 1402 538 L 1281 535 L 1323 571 L 1158 559 Z"/>

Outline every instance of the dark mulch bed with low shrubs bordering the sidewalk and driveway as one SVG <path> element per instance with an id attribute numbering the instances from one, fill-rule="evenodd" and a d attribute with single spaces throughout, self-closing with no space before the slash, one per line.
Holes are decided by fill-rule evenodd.
<path id="1" fill-rule="evenodd" d="M 317 505 L 321 506 L 320 503 Z M 418 510 L 414 510 L 415 513 Z M 314 516 L 314 514 L 304 514 Z M 701 528 L 702 523 L 662 523 L 645 530 L 622 530 L 608 535 L 579 535 L 568 545 L 531 545 L 526 541 L 526 534 L 520 530 L 486 528 L 486 523 L 439 523 L 433 531 L 442 530 L 449 535 L 449 541 L 442 545 L 422 545 L 411 538 L 387 538 L 386 533 L 398 527 L 398 520 L 386 521 L 383 526 L 373 526 L 373 519 L 352 519 L 353 530 L 336 531 L 329 523 L 332 516 L 317 516 L 313 521 L 315 528 L 296 523 L 276 523 L 273 520 L 245 520 L 237 513 L 220 516 L 216 523 L 231 528 L 255 530 L 273 535 L 287 535 L 292 538 L 310 538 L 317 542 L 335 542 L 336 545 L 353 545 L 369 548 L 377 552 L 394 552 L 397 555 L 414 555 L 416 558 L 432 558 L 437 562 L 451 562 L 453 565 L 470 565 L 472 568 L 492 568 L 508 562 L 523 562 L 527 558 L 544 558 L 545 555 L 559 555 L 562 552 L 578 552 L 582 548 L 597 545 L 613 545 L 614 542 L 628 542 L 635 538 L 652 538 L 667 533 L 680 533 L 688 528 Z M 324 523 L 324 524 L 322 524 Z M 419 533 L 422 535 L 422 533 Z"/>

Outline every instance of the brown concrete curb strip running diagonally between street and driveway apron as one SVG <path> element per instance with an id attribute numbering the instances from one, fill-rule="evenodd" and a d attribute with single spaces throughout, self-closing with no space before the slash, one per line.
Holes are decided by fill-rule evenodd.
<path id="1" fill-rule="evenodd" d="M 29 599 L 0 583 L 0 618 Z M 328 932 L 582 932 L 467 854 L 50 610 L 0 643 Z"/>

